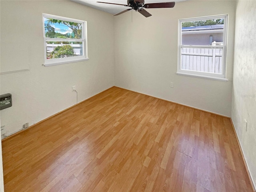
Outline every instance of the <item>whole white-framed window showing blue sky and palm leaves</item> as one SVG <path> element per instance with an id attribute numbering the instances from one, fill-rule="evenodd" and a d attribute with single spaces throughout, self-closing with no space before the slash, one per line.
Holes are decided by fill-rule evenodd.
<path id="1" fill-rule="evenodd" d="M 44 66 L 88 60 L 86 21 L 43 14 Z"/>

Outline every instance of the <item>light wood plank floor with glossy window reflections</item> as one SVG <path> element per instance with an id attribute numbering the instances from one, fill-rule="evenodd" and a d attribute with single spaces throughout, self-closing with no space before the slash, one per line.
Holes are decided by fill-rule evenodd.
<path id="1" fill-rule="evenodd" d="M 2 142 L 6 192 L 250 192 L 229 118 L 110 88 Z"/>

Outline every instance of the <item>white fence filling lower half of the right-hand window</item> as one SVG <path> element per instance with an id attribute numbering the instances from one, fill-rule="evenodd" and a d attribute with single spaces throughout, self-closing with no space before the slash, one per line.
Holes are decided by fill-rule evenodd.
<path id="1" fill-rule="evenodd" d="M 223 46 L 181 46 L 181 69 L 222 74 Z"/>

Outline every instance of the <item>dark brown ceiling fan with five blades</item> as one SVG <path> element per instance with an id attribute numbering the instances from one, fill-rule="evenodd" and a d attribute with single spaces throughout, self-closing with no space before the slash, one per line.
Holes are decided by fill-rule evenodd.
<path id="1" fill-rule="evenodd" d="M 140 14 L 144 15 L 145 17 L 152 16 L 149 12 L 144 10 L 143 8 L 173 8 L 175 5 L 175 2 L 165 2 L 165 3 L 148 3 L 144 4 L 144 0 L 127 0 L 127 5 L 124 4 L 116 4 L 116 3 L 107 3 L 107 2 L 98 2 L 98 3 L 106 3 L 106 4 L 113 4 L 113 5 L 122 5 L 126 7 L 131 7 L 130 9 L 126 9 L 120 13 L 114 14 L 120 15 L 122 13 L 125 13 L 127 11 L 130 11 L 132 9 L 138 11 Z"/>

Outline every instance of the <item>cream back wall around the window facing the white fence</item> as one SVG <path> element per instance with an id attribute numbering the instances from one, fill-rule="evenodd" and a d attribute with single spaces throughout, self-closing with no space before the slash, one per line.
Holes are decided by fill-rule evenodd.
<path id="1" fill-rule="evenodd" d="M 147 11 L 151 17 L 130 11 L 114 18 L 115 85 L 231 116 L 235 1 L 192 0 Z M 178 19 L 218 14 L 229 14 L 229 81 L 177 75 Z"/>

